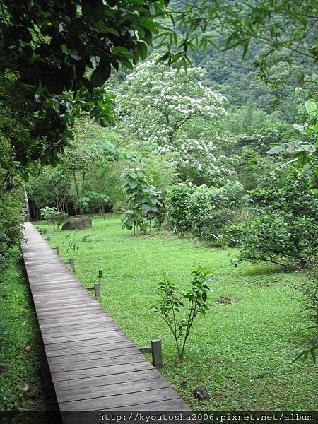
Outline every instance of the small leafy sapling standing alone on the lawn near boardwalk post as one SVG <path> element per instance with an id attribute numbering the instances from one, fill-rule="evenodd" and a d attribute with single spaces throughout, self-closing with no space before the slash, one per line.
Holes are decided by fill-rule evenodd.
<path id="1" fill-rule="evenodd" d="M 153 306 L 153 312 L 160 314 L 175 338 L 179 360 L 183 359 L 184 348 L 194 319 L 199 314 L 205 315 L 209 309 L 207 303 L 211 288 L 208 287 L 207 282 L 211 280 L 211 273 L 204 267 L 198 266 L 192 271 L 191 276 L 193 278 L 191 288 L 179 294 L 176 285 L 170 281 L 167 273 L 163 281 L 159 283 L 160 298 Z M 181 314 L 182 310 L 186 308 L 186 314 Z"/>

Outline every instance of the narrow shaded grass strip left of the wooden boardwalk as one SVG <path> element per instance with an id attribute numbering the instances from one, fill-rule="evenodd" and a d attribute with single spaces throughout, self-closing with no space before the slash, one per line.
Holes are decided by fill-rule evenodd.
<path id="1" fill-rule="evenodd" d="M 16 250 L 0 268 L 0 411 L 56 410 L 52 393 L 29 286 Z M 25 417 L 20 418 L 26 423 Z"/>

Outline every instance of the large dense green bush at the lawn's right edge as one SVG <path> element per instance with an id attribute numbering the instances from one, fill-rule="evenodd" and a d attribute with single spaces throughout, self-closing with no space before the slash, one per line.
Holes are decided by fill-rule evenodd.
<path id="1" fill-rule="evenodd" d="M 318 197 L 313 169 L 293 170 L 251 192 L 251 218 L 230 228 L 240 261 L 308 266 L 318 253 Z"/>

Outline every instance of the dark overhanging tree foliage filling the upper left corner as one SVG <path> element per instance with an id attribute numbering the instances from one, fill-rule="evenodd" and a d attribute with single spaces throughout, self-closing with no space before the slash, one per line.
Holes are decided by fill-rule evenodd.
<path id="1" fill-rule="evenodd" d="M 1 115 L 23 133 L 15 123 L 13 131 L 0 126 L 7 169 L 22 165 L 25 172 L 39 159 L 54 165 L 81 110 L 103 126 L 112 120 L 112 98 L 102 85 L 112 69 L 132 69 L 145 58 L 165 1 L 1 0 L 0 6 Z"/>

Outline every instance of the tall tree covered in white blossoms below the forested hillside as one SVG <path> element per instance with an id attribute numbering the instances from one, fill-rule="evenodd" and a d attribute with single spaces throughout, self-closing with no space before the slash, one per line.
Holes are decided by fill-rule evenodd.
<path id="1" fill-rule="evenodd" d="M 213 136 L 227 114 L 225 98 L 204 86 L 202 68 L 167 69 L 148 61 L 114 89 L 117 131 L 149 150 L 170 154 L 180 177 L 208 184 L 232 178 L 232 159 L 218 158 Z"/>

